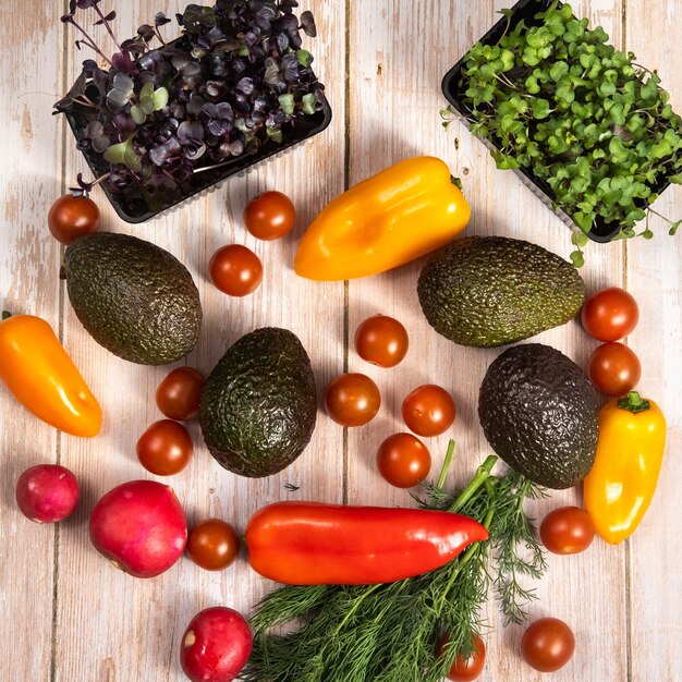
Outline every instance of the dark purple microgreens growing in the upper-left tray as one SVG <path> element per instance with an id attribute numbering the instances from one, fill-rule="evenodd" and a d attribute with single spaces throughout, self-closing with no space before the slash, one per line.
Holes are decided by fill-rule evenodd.
<path id="1" fill-rule="evenodd" d="M 159 12 L 136 35 L 119 42 L 115 11 L 101 0 L 70 0 L 62 17 L 109 66 L 84 61 L 83 71 L 56 110 L 70 114 L 78 149 L 107 187 L 142 215 L 173 203 L 192 176 L 233 163 L 292 138 L 299 121 L 325 106 L 324 86 L 310 70 L 302 33 L 315 35 L 309 12 L 299 20 L 295 0 L 216 0 L 188 4 L 176 15 L 181 36 L 166 44 Z M 115 44 L 107 57 L 83 28 L 93 12 Z M 153 41 L 160 47 L 155 48 Z M 202 181 L 203 182 L 203 181 Z M 166 203 L 166 204 L 165 204 Z"/>

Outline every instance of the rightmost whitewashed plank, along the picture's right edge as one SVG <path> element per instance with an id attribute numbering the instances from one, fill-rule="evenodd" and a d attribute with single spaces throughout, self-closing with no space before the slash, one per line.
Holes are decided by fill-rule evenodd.
<path id="1" fill-rule="evenodd" d="M 628 49 L 635 52 L 638 63 L 658 70 L 673 108 L 682 112 L 680 3 L 628 0 L 625 8 Z M 681 206 L 682 192 L 672 186 L 655 208 L 675 220 Z M 628 244 L 628 290 L 640 304 L 640 324 L 629 344 L 642 362 L 640 388 L 666 414 L 668 442 L 654 501 L 628 541 L 632 680 L 677 682 L 682 641 L 682 610 L 675 602 L 682 594 L 682 538 L 675 532 L 682 510 L 682 247 L 680 235 L 669 236 L 660 219 L 653 217 L 650 226 L 656 235 L 653 241 Z"/>

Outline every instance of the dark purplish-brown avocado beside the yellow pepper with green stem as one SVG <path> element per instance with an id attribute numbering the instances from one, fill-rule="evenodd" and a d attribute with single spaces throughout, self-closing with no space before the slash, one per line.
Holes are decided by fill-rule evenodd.
<path id="1" fill-rule="evenodd" d="M 583 370 L 540 343 L 504 351 L 480 385 L 478 417 L 492 450 L 548 488 L 570 488 L 589 473 L 597 414 L 597 393 Z"/>

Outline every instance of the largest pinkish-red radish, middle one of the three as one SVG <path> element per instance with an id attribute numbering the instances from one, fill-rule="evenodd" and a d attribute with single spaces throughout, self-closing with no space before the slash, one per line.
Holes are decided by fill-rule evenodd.
<path id="1" fill-rule="evenodd" d="M 187 522 L 170 487 L 131 480 L 97 502 L 90 514 L 90 540 L 122 571 L 154 577 L 182 556 Z"/>

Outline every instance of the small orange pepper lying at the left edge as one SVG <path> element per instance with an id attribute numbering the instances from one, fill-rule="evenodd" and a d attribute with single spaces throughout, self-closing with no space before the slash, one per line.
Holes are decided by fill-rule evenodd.
<path id="1" fill-rule="evenodd" d="M 27 410 L 73 436 L 97 436 L 101 407 L 52 328 L 39 317 L 0 321 L 0 379 Z"/>

